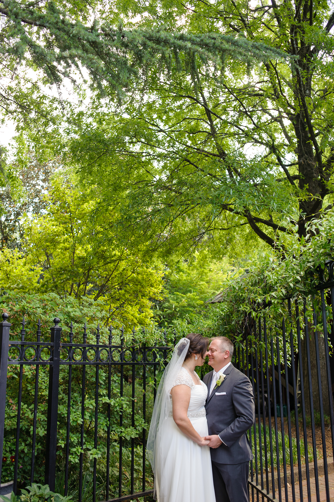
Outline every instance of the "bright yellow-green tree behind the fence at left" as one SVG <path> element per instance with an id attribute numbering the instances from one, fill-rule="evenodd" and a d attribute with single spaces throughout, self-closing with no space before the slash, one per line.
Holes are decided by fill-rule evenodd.
<path id="1" fill-rule="evenodd" d="M 56 293 L 80 303 L 87 297 L 103 305 L 105 323 L 146 325 L 152 300 L 160 298 L 161 267 L 145 260 L 138 246 L 134 252 L 130 238 L 127 245 L 118 242 L 115 215 L 100 210 L 98 188 L 58 169 L 40 203 L 36 199 L 33 207 L 29 197 L 21 200 L 32 209 L 18 218 L 22 251 L 4 247 L 0 254 L 2 292 Z"/>

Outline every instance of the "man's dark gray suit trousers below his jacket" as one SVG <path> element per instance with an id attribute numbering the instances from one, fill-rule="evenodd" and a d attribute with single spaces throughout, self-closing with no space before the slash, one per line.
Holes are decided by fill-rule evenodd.
<path id="1" fill-rule="evenodd" d="M 219 464 L 212 461 L 216 502 L 248 502 L 249 462 Z"/>

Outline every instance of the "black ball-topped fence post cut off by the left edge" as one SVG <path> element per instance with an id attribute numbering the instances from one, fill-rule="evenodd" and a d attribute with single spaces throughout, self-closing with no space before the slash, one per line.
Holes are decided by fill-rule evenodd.
<path id="1" fill-rule="evenodd" d="M 6 312 L 2 317 L 4 320 L 0 322 L 0 482 L 3 468 L 9 336 L 12 326 L 10 322 L 7 322 L 9 315 Z"/>

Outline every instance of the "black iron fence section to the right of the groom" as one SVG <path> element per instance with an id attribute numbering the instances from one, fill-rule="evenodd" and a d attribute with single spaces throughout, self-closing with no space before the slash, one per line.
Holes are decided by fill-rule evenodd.
<path id="1" fill-rule="evenodd" d="M 255 396 L 252 502 L 334 499 L 333 272 L 328 262 L 314 295 L 287 298 L 279 323 L 249 319 L 236 349 Z"/>

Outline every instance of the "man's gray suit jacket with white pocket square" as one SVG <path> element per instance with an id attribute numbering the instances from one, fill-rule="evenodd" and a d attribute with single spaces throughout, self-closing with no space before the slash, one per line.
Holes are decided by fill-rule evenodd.
<path id="1" fill-rule="evenodd" d="M 246 435 L 255 421 L 253 389 L 247 376 L 232 363 L 224 374 L 224 381 L 210 396 L 208 394 L 205 405 L 209 435 L 219 434 L 225 443 L 219 448 L 210 448 L 211 460 L 220 464 L 240 464 L 253 458 Z M 213 371 L 210 371 L 203 379 L 208 392 L 212 376 Z"/>

